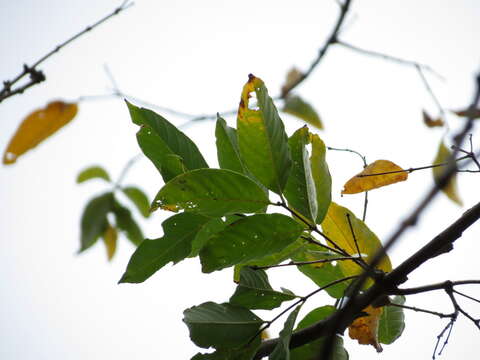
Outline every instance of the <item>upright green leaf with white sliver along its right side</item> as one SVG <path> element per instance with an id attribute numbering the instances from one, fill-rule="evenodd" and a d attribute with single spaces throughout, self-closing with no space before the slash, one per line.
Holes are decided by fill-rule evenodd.
<path id="1" fill-rule="evenodd" d="M 298 129 L 288 140 L 293 164 L 285 187 L 285 197 L 290 207 L 315 223 L 317 193 L 306 148 L 308 143 L 309 133 L 306 126 Z"/>

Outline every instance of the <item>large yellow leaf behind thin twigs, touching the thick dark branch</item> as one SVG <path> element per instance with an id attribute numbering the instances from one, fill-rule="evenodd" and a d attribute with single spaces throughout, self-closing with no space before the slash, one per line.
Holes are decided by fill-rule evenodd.
<path id="1" fill-rule="evenodd" d="M 348 221 L 349 218 L 350 223 Z M 359 254 L 355 245 L 356 239 L 358 248 L 360 249 L 360 255 L 366 263 L 371 261 L 373 255 L 382 246 L 378 237 L 362 220 L 358 219 L 347 208 L 337 205 L 334 202 L 330 204 L 327 216 L 325 216 L 323 220 L 322 228 L 325 235 L 348 254 L 358 256 Z M 362 271 L 362 268 L 353 261 L 340 261 L 339 265 L 345 276 L 356 275 Z M 385 272 L 392 270 L 392 264 L 388 256 L 380 262 L 377 269 Z"/>

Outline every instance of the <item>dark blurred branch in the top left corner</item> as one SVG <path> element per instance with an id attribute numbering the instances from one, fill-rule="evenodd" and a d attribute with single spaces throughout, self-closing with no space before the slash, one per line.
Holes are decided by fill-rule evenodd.
<path id="1" fill-rule="evenodd" d="M 70 44 L 71 42 L 75 41 L 78 39 L 80 36 L 86 34 L 87 32 L 91 31 L 92 29 L 96 28 L 100 24 L 104 23 L 111 17 L 119 14 L 125 9 L 128 9 L 131 7 L 133 3 L 129 2 L 128 0 L 124 1 L 119 7 L 117 7 L 115 10 L 113 10 L 110 14 L 104 16 L 100 20 L 98 20 L 96 23 L 93 25 L 87 26 L 84 30 L 80 31 L 79 33 L 75 34 L 71 38 L 65 40 L 63 43 L 57 45 L 53 50 L 51 50 L 49 53 L 45 54 L 42 56 L 40 59 L 38 59 L 33 65 L 28 66 L 28 65 L 23 65 L 23 71 L 17 75 L 15 78 L 12 80 L 6 80 L 3 82 L 3 89 L 0 90 L 0 103 L 13 96 L 16 94 L 21 94 L 23 93 L 26 89 L 32 87 L 33 85 L 39 84 L 42 81 L 45 81 L 46 77 L 45 74 L 41 71 L 38 70 L 37 67 L 42 64 L 45 60 L 47 60 L 49 57 L 51 57 L 53 54 L 59 52 L 62 48 Z M 29 76 L 29 81 L 21 86 L 17 86 L 16 88 L 13 87 L 18 81 L 23 79 L 25 76 Z"/>

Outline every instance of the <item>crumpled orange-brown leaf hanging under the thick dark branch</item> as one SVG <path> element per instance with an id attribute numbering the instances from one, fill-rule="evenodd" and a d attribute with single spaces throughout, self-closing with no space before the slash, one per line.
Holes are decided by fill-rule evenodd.
<path id="1" fill-rule="evenodd" d="M 348 327 L 350 338 L 357 340 L 362 345 L 372 345 L 377 352 L 382 352 L 382 346 L 378 342 L 378 324 L 383 307 L 374 308 L 372 306 L 363 310 L 367 316 L 356 319 Z"/>

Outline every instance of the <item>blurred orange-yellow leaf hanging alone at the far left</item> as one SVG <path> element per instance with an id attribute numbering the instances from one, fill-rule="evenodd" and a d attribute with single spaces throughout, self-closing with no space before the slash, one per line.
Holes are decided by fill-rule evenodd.
<path id="1" fill-rule="evenodd" d="M 20 124 L 3 155 L 4 164 L 17 158 L 68 124 L 77 114 L 74 103 L 53 101 L 44 109 L 35 110 Z"/>

